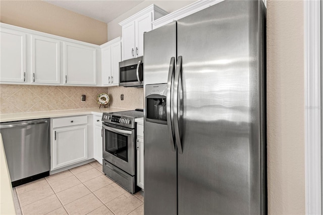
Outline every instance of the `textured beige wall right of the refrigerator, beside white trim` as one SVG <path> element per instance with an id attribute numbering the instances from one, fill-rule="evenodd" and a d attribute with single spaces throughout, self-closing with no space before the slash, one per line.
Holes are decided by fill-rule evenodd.
<path id="1" fill-rule="evenodd" d="M 269 214 L 305 214 L 303 4 L 267 1 Z"/>

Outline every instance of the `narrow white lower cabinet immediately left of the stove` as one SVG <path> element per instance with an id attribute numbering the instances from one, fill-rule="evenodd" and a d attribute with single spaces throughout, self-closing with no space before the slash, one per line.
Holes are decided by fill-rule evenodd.
<path id="1" fill-rule="evenodd" d="M 97 160 L 98 163 L 102 164 L 102 122 L 101 115 L 93 116 L 93 158 Z"/>

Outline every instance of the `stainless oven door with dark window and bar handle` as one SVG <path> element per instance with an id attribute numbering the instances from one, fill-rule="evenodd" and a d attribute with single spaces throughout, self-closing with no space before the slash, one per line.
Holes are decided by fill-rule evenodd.
<path id="1" fill-rule="evenodd" d="M 134 129 L 108 123 L 102 123 L 102 129 L 103 159 L 134 176 Z"/>

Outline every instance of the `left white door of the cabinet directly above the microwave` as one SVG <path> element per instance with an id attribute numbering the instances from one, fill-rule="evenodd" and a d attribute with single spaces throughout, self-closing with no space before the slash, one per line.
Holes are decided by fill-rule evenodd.
<path id="1" fill-rule="evenodd" d="M 122 60 L 135 57 L 135 22 L 122 26 Z"/>

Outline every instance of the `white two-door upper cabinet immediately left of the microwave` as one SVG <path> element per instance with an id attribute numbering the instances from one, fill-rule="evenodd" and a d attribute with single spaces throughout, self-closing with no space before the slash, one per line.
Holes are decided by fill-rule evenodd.
<path id="1" fill-rule="evenodd" d="M 121 61 L 121 38 L 101 45 L 101 86 L 119 85 L 119 62 Z"/>

